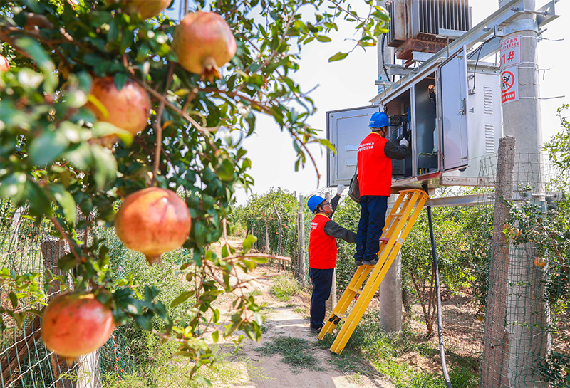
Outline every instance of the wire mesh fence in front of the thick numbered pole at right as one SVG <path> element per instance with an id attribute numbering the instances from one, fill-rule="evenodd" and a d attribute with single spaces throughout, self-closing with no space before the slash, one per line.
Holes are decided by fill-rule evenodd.
<path id="1" fill-rule="evenodd" d="M 541 154 L 512 154 L 503 167 L 482 387 L 570 387 L 568 177 Z"/>

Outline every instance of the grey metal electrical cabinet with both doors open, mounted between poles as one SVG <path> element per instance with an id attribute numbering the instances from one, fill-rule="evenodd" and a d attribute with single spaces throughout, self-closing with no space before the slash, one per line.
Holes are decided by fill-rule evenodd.
<path id="1" fill-rule="evenodd" d="M 375 105 L 327 112 L 329 187 L 348 184 L 374 112 L 390 117 L 390 141 L 410 140 L 411 154 L 393 160 L 393 187 L 485 185 L 481 160 L 502 137 L 499 68 L 467 59 L 463 48 L 373 100 Z M 489 182 L 487 182 L 489 184 Z"/>

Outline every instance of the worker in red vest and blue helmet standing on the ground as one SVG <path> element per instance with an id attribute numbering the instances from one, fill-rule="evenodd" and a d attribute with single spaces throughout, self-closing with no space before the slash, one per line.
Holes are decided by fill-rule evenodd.
<path id="1" fill-rule="evenodd" d="M 313 283 L 311 295 L 311 332 L 319 332 L 324 325 L 326 300 L 331 296 L 333 274 L 336 267 L 336 239 L 356 243 L 356 233 L 344 229 L 331 219 L 344 185 L 339 184 L 336 195 L 329 203 L 322 196 L 311 196 L 307 206 L 315 218 L 311 221 L 309 237 L 309 278 Z"/>

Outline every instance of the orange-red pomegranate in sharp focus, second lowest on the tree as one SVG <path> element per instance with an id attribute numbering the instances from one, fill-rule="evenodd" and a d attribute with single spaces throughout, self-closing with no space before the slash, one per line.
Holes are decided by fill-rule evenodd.
<path id="1" fill-rule="evenodd" d="M 130 194 L 115 217 L 115 231 L 127 248 L 145 254 L 149 264 L 185 243 L 192 219 L 185 201 L 172 190 L 147 187 Z"/>

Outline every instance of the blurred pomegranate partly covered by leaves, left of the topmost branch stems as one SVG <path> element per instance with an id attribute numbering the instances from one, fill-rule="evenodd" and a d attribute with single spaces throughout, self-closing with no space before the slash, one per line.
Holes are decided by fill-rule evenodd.
<path id="1" fill-rule="evenodd" d="M 95 78 L 91 94 L 99 100 L 107 112 L 94 103 L 87 103 L 97 120 L 110 122 L 136 135 L 145 129 L 150 117 L 150 98 L 134 81 L 127 81 L 121 90 L 115 86 L 113 77 Z"/>

